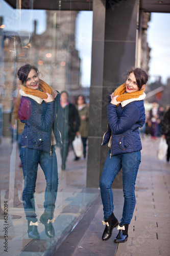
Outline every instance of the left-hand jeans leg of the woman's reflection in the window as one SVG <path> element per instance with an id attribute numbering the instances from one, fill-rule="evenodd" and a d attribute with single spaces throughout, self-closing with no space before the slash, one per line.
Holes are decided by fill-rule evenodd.
<path id="1" fill-rule="evenodd" d="M 31 150 L 30 148 L 21 147 L 20 160 L 24 178 L 22 200 L 26 219 L 31 219 L 33 222 L 36 222 L 37 215 L 35 213 L 34 193 L 37 179 L 39 153 L 38 151 Z"/>

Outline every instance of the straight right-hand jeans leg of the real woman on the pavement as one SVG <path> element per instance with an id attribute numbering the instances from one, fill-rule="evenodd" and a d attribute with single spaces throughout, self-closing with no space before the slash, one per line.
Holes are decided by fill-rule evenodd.
<path id="1" fill-rule="evenodd" d="M 121 155 L 123 187 L 124 187 L 124 208 L 120 225 L 130 224 L 135 208 L 135 181 L 141 161 L 140 151 Z"/>

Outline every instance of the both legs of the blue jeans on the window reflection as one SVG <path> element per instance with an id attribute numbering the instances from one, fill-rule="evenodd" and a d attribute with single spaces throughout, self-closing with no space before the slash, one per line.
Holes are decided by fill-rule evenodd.
<path id="1" fill-rule="evenodd" d="M 38 164 L 40 164 L 46 179 L 44 208 L 49 217 L 53 219 L 58 190 L 58 167 L 55 147 L 52 146 L 52 155 L 42 151 L 32 150 L 28 147 L 21 147 L 20 160 L 24 178 L 22 200 L 26 219 L 37 217 L 35 213 L 34 193 Z"/>

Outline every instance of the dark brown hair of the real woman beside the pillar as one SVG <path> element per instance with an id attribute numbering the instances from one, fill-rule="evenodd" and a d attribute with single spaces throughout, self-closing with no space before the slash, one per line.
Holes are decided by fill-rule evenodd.
<path id="1" fill-rule="evenodd" d="M 128 76 L 131 74 L 131 73 L 134 73 L 135 75 L 135 78 L 136 78 L 136 82 L 137 82 L 137 86 L 139 88 L 139 90 L 141 89 L 141 87 L 143 86 L 143 84 L 146 84 L 148 82 L 148 75 L 147 73 L 142 70 L 142 69 L 139 69 L 139 68 L 132 68 L 128 71 L 127 73 L 127 78 Z"/>

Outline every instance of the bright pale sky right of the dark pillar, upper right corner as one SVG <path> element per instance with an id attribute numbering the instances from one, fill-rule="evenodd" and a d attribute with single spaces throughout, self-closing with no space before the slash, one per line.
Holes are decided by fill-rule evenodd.
<path id="1" fill-rule="evenodd" d="M 150 82 L 157 76 L 166 84 L 170 78 L 170 13 L 151 13 L 148 23 L 148 44 L 151 50 L 149 63 Z"/>

